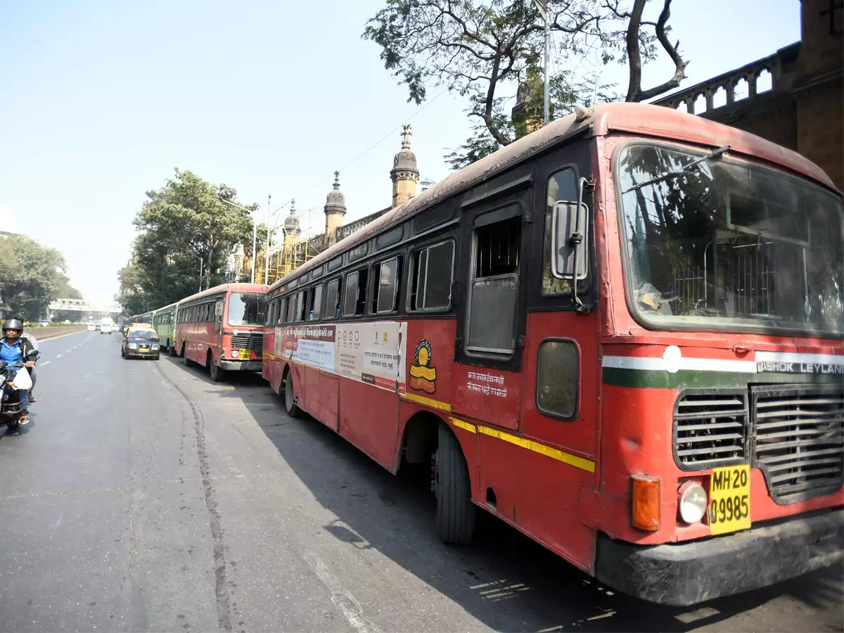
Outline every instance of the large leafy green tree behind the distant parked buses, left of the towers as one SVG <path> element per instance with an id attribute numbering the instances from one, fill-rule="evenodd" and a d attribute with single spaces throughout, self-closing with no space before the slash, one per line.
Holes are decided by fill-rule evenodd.
<path id="1" fill-rule="evenodd" d="M 134 220 L 138 237 L 133 261 L 118 273 L 118 300 L 127 315 L 183 299 L 197 292 L 200 283 L 203 288 L 222 283 L 235 245 L 252 250 L 249 211 L 223 202 L 238 204 L 231 187 L 176 169 L 164 187 L 146 195 Z"/>

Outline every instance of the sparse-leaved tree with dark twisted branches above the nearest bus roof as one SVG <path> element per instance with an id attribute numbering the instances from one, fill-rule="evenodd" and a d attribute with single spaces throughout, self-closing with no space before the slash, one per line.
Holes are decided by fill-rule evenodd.
<path id="1" fill-rule="evenodd" d="M 656 23 L 642 19 L 646 3 L 633 0 L 628 9 L 625 0 L 547 0 L 555 62 L 561 68 L 549 77 L 552 118 L 567 114 L 576 103 L 591 106 L 616 98 L 598 76 L 577 78 L 565 68 L 592 51 L 600 51 L 604 64 L 630 60 L 628 100 L 679 85 L 686 62 L 667 38 L 671 0 L 663 0 Z M 528 131 L 506 111 L 514 92 L 525 111 L 541 112 L 537 79 L 541 85 L 544 23 L 533 0 L 387 0 L 366 23 L 363 37 L 381 46 L 381 61 L 407 86 L 408 101 L 421 104 L 430 87 L 441 85 L 468 98 L 468 116 L 477 123 L 468 141 L 446 156 L 454 168 Z M 664 84 L 642 90 L 641 65 L 656 56 L 657 42 L 677 71 Z"/>

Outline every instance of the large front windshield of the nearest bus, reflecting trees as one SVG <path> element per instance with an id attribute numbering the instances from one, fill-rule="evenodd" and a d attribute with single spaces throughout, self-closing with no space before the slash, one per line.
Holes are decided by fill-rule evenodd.
<path id="1" fill-rule="evenodd" d="M 727 158 L 691 165 L 701 155 L 633 143 L 619 156 L 625 270 L 641 321 L 844 331 L 841 199 Z"/>

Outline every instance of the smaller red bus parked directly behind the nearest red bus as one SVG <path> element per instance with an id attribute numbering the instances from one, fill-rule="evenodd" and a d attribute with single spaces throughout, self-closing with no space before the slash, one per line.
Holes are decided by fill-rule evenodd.
<path id="1" fill-rule="evenodd" d="M 261 371 L 266 292 L 261 284 L 222 284 L 179 301 L 174 344 L 185 365 L 208 367 L 214 381 L 226 371 Z"/>

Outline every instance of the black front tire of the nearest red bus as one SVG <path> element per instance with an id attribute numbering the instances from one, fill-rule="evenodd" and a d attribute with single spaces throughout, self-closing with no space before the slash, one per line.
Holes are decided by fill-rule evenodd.
<path id="1" fill-rule="evenodd" d="M 434 453 L 434 525 L 443 543 L 463 545 L 472 540 L 475 507 L 466 459 L 457 437 L 440 425 Z"/>

